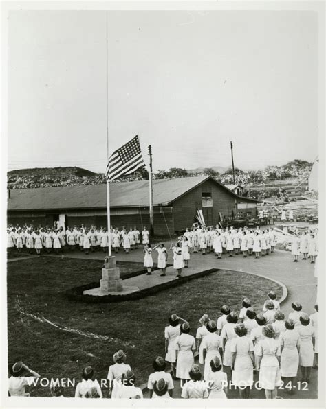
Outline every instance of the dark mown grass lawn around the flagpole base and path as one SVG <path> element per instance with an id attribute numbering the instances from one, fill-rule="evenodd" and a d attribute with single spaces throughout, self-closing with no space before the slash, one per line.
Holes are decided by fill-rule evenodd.
<path id="1" fill-rule="evenodd" d="M 142 263 L 127 262 L 119 266 L 122 277 L 143 268 Z M 113 353 L 122 347 L 138 377 L 136 383 L 142 384 L 151 373 L 151 362 L 156 355 L 164 355 L 164 327 L 173 312 L 189 321 L 191 334 L 195 336 L 202 314 L 216 319 L 223 304 L 239 310 L 244 296 L 252 300 L 259 312 L 268 290 L 275 290 L 278 297 L 282 292 L 279 285 L 266 279 L 221 270 L 137 301 L 88 304 L 65 297 L 67 288 L 100 280 L 101 267 L 102 261 L 56 257 L 8 264 L 10 363 L 23 360 L 41 377 L 76 377 L 79 382 L 85 365 L 94 367 L 98 379 L 106 378 Z M 17 301 L 28 314 L 71 329 L 109 336 L 111 341 L 63 331 L 21 314 Z M 38 386 L 31 395 L 48 396 L 49 391 Z M 65 390 L 65 396 L 73 395 L 74 388 Z"/>

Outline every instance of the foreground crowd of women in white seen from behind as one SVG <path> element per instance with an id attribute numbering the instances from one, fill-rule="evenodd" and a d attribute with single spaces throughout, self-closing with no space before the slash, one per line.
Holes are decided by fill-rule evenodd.
<path id="1" fill-rule="evenodd" d="M 242 300 L 239 311 L 222 305 L 217 319 L 204 314 L 195 331 L 177 314 L 168 320 L 165 355 L 153 357 L 146 385 L 149 398 L 173 398 L 175 382 L 180 382 L 184 399 L 227 399 L 232 388 L 239 390 L 242 399 L 250 398 L 253 388 L 265 390 L 266 399 L 275 399 L 279 390 L 291 395 L 305 390 L 312 368 L 318 369 L 318 305 L 309 316 L 294 302 L 285 320 L 275 292 L 270 291 L 259 311 L 254 311 L 248 298 Z M 144 397 L 127 361 L 122 349 L 114 353 L 105 383 L 107 397 Z M 21 361 L 10 371 L 11 396 L 28 396 L 31 379 L 41 376 Z M 95 375 L 91 366 L 83 369 L 75 397 L 103 397 L 103 382 Z M 64 397 L 65 388 L 51 384 L 49 395 Z"/>

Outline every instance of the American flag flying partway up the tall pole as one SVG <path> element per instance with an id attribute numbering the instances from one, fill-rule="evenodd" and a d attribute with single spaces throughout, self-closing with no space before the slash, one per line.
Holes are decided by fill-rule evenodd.
<path id="1" fill-rule="evenodd" d="M 132 174 L 144 165 L 138 135 L 136 135 L 131 141 L 111 154 L 105 177 L 112 182 L 121 176 Z"/>

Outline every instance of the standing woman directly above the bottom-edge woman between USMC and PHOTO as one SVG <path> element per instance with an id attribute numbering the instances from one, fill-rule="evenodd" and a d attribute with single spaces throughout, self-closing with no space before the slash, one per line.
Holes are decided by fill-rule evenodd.
<path id="1" fill-rule="evenodd" d="M 202 342 L 203 358 L 205 362 L 204 366 L 204 381 L 208 379 L 208 373 L 210 373 L 210 360 L 215 356 L 221 359 L 220 351 L 222 353 L 222 338 L 216 334 L 217 328 L 215 321 L 209 320 L 206 325 L 208 334 L 204 336 Z"/>

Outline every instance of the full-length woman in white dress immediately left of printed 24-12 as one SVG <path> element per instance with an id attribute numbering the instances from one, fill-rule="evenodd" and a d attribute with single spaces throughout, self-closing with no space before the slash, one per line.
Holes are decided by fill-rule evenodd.
<path id="1" fill-rule="evenodd" d="M 265 338 L 257 347 L 259 386 L 265 389 L 266 399 L 276 399 L 277 388 L 281 386 L 281 348 L 275 338 L 272 325 L 263 327 Z"/>

